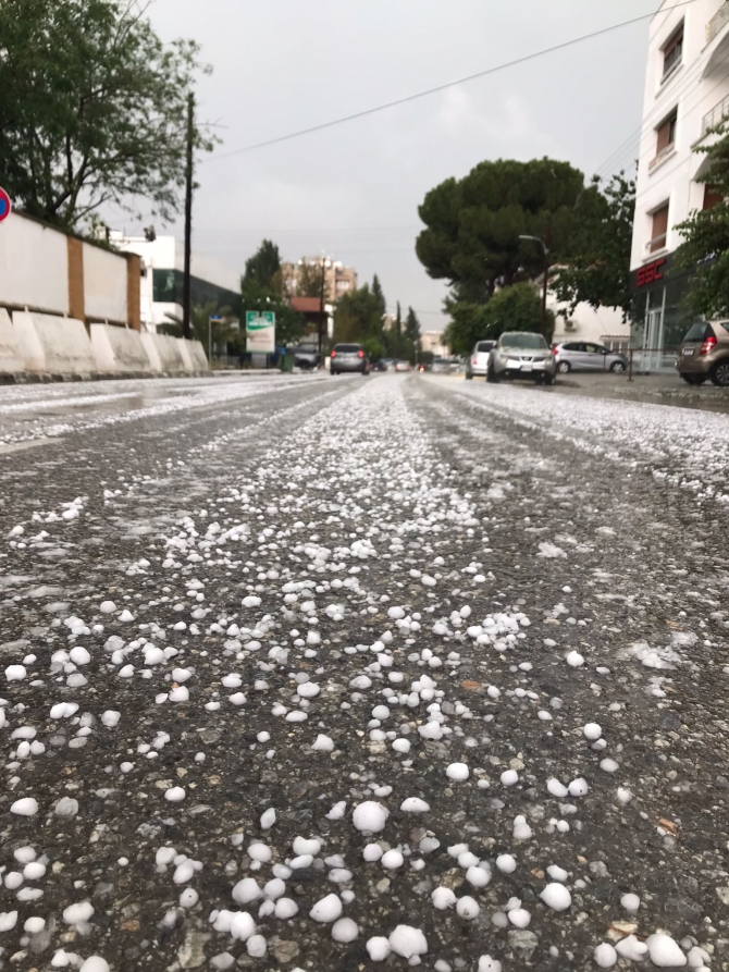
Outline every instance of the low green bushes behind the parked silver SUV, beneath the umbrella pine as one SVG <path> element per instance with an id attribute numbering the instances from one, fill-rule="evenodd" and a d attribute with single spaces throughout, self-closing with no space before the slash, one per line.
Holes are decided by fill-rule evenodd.
<path id="1" fill-rule="evenodd" d="M 467 300 L 446 302 L 450 322 L 444 340 L 457 355 L 470 355 L 477 341 L 495 341 L 504 331 L 542 330 L 542 302 L 535 287 L 528 282 L 511 284 L 496 291 L 487 304 Z M 547 311 L 547 341 L 554 333 L 555 317 Z"/>

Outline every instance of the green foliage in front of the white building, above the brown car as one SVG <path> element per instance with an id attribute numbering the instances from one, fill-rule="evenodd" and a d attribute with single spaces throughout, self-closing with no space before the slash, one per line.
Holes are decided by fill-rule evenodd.
<path id="1" fill-rule="evenodd" d="M 706 156 L 697 182 L 711 185 L 724 199 L 711 209 L 694 210 L 676 229 L 683 243 L 676 269 L 689 270 L 687 309 L 711 319 L 729 317 L 729 130 L 719 126 L 713 145 L 695 151 Z"/>

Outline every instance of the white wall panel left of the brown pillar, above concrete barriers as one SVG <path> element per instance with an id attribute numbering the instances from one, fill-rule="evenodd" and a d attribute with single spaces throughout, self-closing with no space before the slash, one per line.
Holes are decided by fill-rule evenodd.
<path id="1" fill-rule="evenodd" d="M 69 312 L 69 249 L 63 233 L 16 212 L 0 225 L 0 304 Z"/>

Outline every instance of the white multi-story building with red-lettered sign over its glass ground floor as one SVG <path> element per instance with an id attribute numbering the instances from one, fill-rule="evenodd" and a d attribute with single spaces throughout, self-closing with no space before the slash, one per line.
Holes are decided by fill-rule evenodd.
<path id="1" fill-rule="evenodd" d="M 631 255 L 632 343 L 670 348 L 691 322 L 683 297 L 688 273 L 674 271 L 677 225 L 719 201 L 697 182 L 706 157 L 696 151 L 729 118 L 729 2 L 664 0 L 651 22 Z M 669 355 L 653 360 L 665 364 Z"/>

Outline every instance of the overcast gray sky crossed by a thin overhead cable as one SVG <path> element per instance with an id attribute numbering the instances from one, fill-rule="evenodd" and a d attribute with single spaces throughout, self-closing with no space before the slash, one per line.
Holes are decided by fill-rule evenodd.
<path id="1" fill-rule="evenodd" d="M 264 236 L 376 271 L 388 304 L 440 329 L 445 285 L 415 256 L 417 208 L 483 159 L 631 163 L 648 22 L 367 119 L 223 153 L 617 24 L 658 0 L 156 0 L 161 36 L 195 37 L 213 74 L 200 114 L 224 139 L 197 170 L 193 246 L 235 269 Z M 613 157 L 613 160 L 610 160 Z M 613 161 L 613 164 L 609 162 Z M 607 164 L 606 164 L 607 163 Z M 128 229 L 128 226 L 127 226 Z M 158 232 L 160 227 L 158 227 Z"/>

